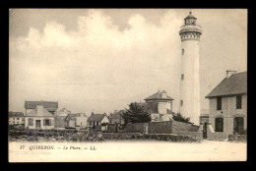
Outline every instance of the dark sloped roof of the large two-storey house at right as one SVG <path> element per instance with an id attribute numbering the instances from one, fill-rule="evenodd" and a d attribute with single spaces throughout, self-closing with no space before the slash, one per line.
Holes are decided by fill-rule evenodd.
<path id="1" fill-rule="evenodd" d="M 247 72 L 231 75 L 217 85 L 206 98 L 247 93 Z"/>

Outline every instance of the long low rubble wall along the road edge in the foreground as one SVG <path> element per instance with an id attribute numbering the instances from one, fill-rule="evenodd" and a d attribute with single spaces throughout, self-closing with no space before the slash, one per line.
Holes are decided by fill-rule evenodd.
<path id="1" fill-rule="evenodd" d="M 140 134 L 140 133 L 98 133 L 69 131 L 12 131 L 10 142 L 98 142 L 98 141 L 165 141 L 165 142 L 200 142 L 198 138 L 187 135 Z"/>

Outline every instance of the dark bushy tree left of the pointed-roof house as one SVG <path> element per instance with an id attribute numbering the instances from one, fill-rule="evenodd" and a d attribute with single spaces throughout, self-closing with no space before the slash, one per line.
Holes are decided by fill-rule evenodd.
<path id="1" fill-rule="evenodd" d="M 137 102 L 129 104 L 129 109 L 126 109 L 122 114 L 125 124 L 131 123 L 146 123 L 151 122 L 151 114 L 146 106 L 139 105 Z"/>

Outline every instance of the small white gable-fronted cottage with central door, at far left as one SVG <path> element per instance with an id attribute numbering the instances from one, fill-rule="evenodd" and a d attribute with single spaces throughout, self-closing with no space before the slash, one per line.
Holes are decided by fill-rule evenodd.
<path id="1" fill-rule="evenodd" d="M 36 105 L 34 110 L 25 115 L 25 128 L 32 130 L 54 129 L 54 116 L 42 105 Z"/>

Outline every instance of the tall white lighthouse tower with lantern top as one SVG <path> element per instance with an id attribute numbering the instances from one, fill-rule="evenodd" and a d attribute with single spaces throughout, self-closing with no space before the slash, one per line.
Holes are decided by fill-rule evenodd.
<path id="1" fill-rule="evenodd" d="M 199 85 L 199 40 L 201 27 L 197 19 L 189 12 L 180 28 L 181 38 L 181 78 L 179 112 L 190 117 L 190 122 L 198 125 L 200 116 Z"/>

